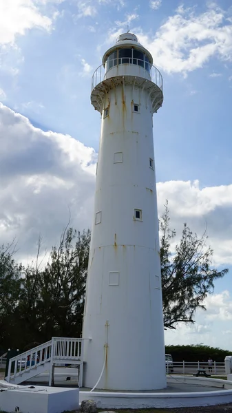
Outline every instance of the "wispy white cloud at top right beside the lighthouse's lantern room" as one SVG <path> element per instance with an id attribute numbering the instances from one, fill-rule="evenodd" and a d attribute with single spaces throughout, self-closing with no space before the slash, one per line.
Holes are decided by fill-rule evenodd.
<path id="1" fill-rule="evenodd" d="M 176 14 L 163 23 L 156 35 L 138 33 L 140 42 L 154 57 L 155 65 L 167 73 L 187 74 L 203 67 L 213 56 L 232 60 L 232 24 L 229 11 L 208 7 L 197 14 L 197 8 L 180 6 Z"/>

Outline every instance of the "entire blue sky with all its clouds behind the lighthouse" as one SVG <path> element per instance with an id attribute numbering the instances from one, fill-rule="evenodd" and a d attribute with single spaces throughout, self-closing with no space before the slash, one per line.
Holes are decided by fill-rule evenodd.
<path id="1" fill-rule="evenodd" d="M 207 226 L 215 282 L 196 324 L 166 344 L 232 351 L 231 0 L 0 0 L 0 244 L 30 262 L 71 225 L 92 226 L 101 118 L 91 78 L 104 52 L 134 32 L 162 73 L 154 114 L 158 211 L 171 226 Z"/>

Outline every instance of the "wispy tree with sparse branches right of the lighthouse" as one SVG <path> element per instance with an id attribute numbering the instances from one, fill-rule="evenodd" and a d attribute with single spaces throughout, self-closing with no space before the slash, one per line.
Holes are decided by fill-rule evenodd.
<path id="1" fill-rule="evenodd" d="M 193 324 L 197 308 L 206 310 L 204 299 L 213 292 L 215 280 L 224 277 L 228 270 L 212 268 L 213 250 L 207 246 L 206 232 L 199 238 L 187 224 L 172 252 L 176 231 L 170 229 L 169 221 L 167 202 L 160 219 L 162 302 L 165 328 L 176 328 L 180 322 Z"/>

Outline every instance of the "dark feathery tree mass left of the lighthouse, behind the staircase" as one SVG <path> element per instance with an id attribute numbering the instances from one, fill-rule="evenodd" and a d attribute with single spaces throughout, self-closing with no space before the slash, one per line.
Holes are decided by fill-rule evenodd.
<path id="1" fill-rule="evenodd" d="M 52 247 L 42 266 L 39 237 L 36 260 L 20 266 L 21 288 L 12 312 L 7 312 L 8 347 L 25 350 L 51 337 L 81 336 L 89 243 L 89 230 L 80 233 L 66 227 L 59 247 Z"/>

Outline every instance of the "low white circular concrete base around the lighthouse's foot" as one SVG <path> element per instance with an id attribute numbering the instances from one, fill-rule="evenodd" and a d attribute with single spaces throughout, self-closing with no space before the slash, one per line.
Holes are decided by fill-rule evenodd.
<path id="1" fill-rule="evenodd" d="M 188 376 L 167 378 L 167 390 L 154 392 L 80 392 L 80 403 L 96 401 L 100 409 L 142 409 L 219 405 L 232 402 L 232 381 Z"/>

